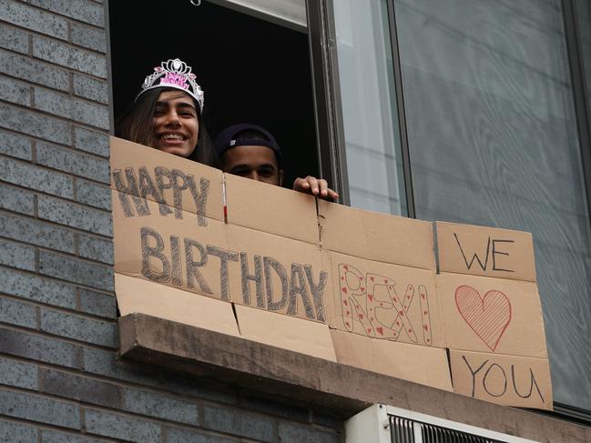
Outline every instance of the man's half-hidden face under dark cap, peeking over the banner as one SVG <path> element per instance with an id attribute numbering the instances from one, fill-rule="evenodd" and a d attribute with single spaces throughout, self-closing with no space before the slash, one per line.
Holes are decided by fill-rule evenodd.
<path id="1" fill-rule="evenodd" d="M 267 146 L 234 146 L 221 156 L 224 172 L 280 186 L 283 171 L 277 165 L 275 152 Z"/>

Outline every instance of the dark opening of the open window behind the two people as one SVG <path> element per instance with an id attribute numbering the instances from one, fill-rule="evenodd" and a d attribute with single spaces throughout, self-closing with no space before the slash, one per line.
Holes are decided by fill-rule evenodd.
<path id="1" fill-rule="evenodd" d="M 154 66 L 178 57 L 205 92 L 210 136 L 235 123 L 264 126 L 283 150 L 284 185 L 319 176 L 306 27 L 237 3 L 109 2 L 115 118 Z"/>

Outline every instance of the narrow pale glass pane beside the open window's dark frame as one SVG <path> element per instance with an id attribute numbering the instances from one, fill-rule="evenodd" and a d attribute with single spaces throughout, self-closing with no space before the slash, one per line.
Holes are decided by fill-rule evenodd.
<path id="1" fill-rule="evenodd" d="M 351 205 L 406 215 L 386 1 L 335 0 Z"/>

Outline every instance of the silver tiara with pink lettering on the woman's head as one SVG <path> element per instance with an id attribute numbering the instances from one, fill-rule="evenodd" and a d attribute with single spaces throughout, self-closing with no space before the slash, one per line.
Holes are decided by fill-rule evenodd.
<path id="1" fill-rule="evenodd" d="M 171 58 L 156 66 L 154 72 L 146 77 L 144 84 L 141 86 L 142 90 L 136 97 L 136 100 L 149 89 L 174 87 L 185 91 L 189 96 L 195 98 L 197 103 L 199 103 L 199 110 L 203 112 L 203 90 L 197 84 L 195 78 L 195 74 L 191 72 L 191 66 L 179 58 Z M 158 79 L 160 80 L 159 82 Z"/>

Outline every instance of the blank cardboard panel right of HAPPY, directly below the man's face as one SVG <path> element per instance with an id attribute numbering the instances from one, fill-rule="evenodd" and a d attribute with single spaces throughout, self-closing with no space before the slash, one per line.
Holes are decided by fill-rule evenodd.
<path id="1" fill-rule="evenodd" d="M 241 176 L 224 179 L 229 224 L 318 244 L 313 196 Z"/>

